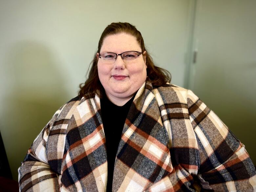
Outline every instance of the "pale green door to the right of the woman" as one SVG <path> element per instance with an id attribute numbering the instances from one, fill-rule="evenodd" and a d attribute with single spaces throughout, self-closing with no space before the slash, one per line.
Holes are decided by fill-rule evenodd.
<path id="1" fill-rule="evenodd" d="M 256 1 L 198 0 L 188 87 L 256 164 Z"/>

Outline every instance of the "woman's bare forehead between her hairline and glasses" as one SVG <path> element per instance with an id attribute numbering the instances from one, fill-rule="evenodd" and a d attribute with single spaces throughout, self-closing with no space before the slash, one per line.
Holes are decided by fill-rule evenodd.
<path id="1" fill-rule="evenodd" d="M 127 33 L 119 33 L 105 37 L 100 53 L 122 53 L 125 51 L 141 51 L 141 48 L 136 37 Z"/>

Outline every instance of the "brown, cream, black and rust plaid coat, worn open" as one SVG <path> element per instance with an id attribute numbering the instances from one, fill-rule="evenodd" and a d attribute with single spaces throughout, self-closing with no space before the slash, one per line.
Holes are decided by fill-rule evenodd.
<path id="1" fill-rule="evenodd" d="M 99 97 L 75 97 L 34 140 L 19 168 L 20 191 L 105 191 L 104 143 Z M 139 89 L 113 191 L 255 191 L 255 174 L 244 145 L 190 90 L 149 82 Z"/>

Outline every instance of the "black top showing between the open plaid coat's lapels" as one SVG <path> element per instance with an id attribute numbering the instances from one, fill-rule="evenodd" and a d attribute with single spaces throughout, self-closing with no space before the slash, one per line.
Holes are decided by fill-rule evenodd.
<path id="1" fill-rule="evenodd" d="M 123 106 L 112 103 L 105 95 L 100 99 L 102 123 L 106 138 L 108 180 L 107 192 L 112 191 L 114 165 L 125 119 L 136 94 Z"/>

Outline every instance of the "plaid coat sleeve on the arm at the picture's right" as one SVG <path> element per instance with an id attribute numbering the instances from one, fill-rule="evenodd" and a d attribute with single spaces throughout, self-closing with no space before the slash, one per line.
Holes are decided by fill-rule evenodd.
<path id="1" fill-rule="evenodd" d="M 202 187 L 214 191 L 255 191 L 255 167 L 244 145 L 190 90 L 187 104 L 198 141 L 198 178 Z"/>

